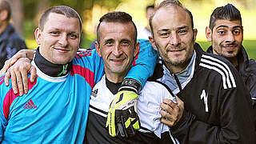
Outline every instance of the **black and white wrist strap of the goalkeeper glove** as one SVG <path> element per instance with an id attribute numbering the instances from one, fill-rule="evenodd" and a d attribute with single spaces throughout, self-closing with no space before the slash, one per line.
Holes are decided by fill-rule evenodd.
<path id="1" fill-rule="evenodd" d="M 142 88 L 142 86 L 137 80 L 131 79 L 131 78 L 126 78 L 123 80 L 121 87 L 118 89 L 118 91 L 131 90 L 131 91 L 134 91 L 136 94 L 138 94 L 140 92 L 141 88 Z"/>

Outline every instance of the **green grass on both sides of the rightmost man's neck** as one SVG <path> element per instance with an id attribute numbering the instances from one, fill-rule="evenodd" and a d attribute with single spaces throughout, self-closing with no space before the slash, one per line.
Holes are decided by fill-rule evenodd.
<path id="1" fill-rule="evenodd" d="M 203 50 L 207 50 L 211 45 L 211 42 L 206 41 L 198 41 L 198 43 L 202 46 Z M 242 45 L 245 47 L 248 57 L 256 60 L 256 40 L 244 40 Z"/>

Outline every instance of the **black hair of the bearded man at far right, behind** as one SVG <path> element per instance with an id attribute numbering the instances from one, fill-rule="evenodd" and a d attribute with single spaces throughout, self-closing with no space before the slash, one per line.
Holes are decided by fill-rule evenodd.
<path id="1" fill-rule="evenodd" d="M 217 7 L 214 10 L 213 14 L 210 15 L 210 30 L 214 29 L 215 22 L 218 19 L 226 19 L 229 21 L 240 21 L 242 26 L 242 18 L 241 18 L 240 11 L 230 3 L 228 3 L 226 6 Z"/>

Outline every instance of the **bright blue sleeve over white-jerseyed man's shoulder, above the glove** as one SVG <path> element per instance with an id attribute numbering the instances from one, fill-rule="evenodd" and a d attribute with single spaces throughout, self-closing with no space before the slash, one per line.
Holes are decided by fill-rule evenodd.
<path id="1" fill-rule="evenodd" d="M 154 66 L 158 62 L 158 53 L 149 40 L 140 39 L 138 42 L 140 43 L 139 52 L 134 58 L 133 66 L 126 78 L 136 79 L 144 86 L 146 79 L 154 73 Z"/>

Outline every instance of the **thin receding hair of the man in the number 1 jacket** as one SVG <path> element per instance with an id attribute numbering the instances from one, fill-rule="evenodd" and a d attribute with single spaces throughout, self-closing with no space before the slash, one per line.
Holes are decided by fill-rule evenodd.
<path id="1" fill-rule="evenodd" d="M 178 6 L 178 7 L 181 7 L 182 10 L 185 10 L 187 14 L 189 14 L 190 16 L 190 19 L 191 19 L 191 26 L 192 26 L 192 29 L 194 28 L 194 21 L 193 21 L 193 15 L 192 13 L 190 12 L 190 10 L 187 10 L 186 7 L 184 7 L 182 5 L 181 2 L 179 2 L 178 0 L 165 0 L 165 1 L 162 1 L 157 10 L 154 11 L 154 14 L 156 14 L 156 12 L 161 9 L 162 7 L 166 7 L 166 6 Z M 152 25 L 152 19 L 154 18 L 154 14 L 151 15 L 150 17 L 150 29 L 152 31 L 152 35 L 154 36 L 154 31 L 153 31 L 153 25 Z"/>

